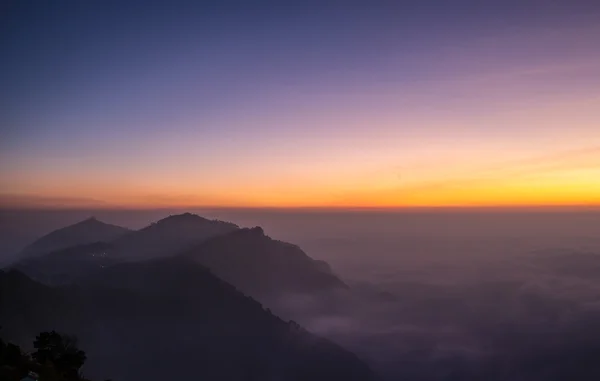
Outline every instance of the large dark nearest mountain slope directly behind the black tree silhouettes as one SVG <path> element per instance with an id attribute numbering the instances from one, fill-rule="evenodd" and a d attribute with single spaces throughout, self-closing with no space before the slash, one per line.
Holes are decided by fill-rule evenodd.
<path id="1" fill-rule="evenodd" d="M 76 334 L 96 379 L 374 379 L 354 354 L 181 257 L 110 266 L 78 287 L 0 272 L 0 321 L 18 343 L 48 329 Z"/>

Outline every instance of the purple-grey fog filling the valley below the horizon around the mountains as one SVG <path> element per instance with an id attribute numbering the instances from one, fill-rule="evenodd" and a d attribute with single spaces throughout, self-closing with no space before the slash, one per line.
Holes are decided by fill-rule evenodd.
<path id="1" fill-rule="evenodd" d="M 600 212 L 193 212 L 327 261 L 350 291 L 279 311 L 386 379 L 600 379 Z M 168 214 L 94 213 L 134 228 Z M 36 234 L 85 214 L 44 214 Z"/>

